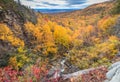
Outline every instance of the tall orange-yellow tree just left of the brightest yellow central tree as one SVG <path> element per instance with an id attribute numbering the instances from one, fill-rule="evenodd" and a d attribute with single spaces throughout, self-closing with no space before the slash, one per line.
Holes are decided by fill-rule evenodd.
<path id="1" fill-rule="evenodd" d="M 50 55 L 57 52 L 52 32 L 47 24 L 42 29 L 42 43 L 43 54 Z"/>

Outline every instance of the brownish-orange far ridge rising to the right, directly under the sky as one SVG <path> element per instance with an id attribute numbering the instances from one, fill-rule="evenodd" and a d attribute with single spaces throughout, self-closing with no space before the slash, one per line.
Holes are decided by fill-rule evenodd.
<path id="1" fill-rule="evenodd" d="M 107 2 L 103 2 L 103 3 L 98 3 L 98 4 L 94 4 L 91 6 L 88 6 L 85 9 L 82 10 L 76 10 L 73 12 L 66 12 L 66 13 L 58 13 L 55 14 L 56 16 L 61 16 L 61 17 L 76 17 L 76 16 L 90 16 L 90 15 L 94 15 L 94 14 L 105 14 L 108 13 L 110 11 L 110 9 L 112 9 L 113 4 L 115 3 L 115 1 L 107 1 Z"/>

